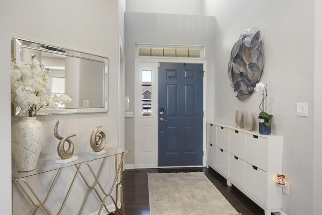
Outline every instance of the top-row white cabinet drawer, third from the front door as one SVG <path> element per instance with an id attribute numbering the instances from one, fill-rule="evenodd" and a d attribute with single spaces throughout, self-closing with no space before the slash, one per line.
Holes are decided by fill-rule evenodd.
<path id="1" fill-rule="evenodd" d="M 245 160 L 245 133 L 229 129 L 229 153 Z"/>

